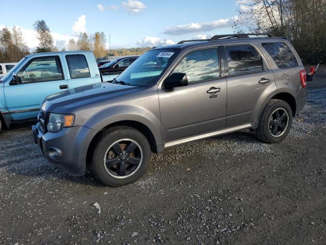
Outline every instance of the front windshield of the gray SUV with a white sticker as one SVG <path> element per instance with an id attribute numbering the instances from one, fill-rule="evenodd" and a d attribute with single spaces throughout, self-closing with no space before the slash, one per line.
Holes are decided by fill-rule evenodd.
<path id="1" fill-rule="evenodd" d="M 124 70 L 116 82 L 131 86 L 154 84 L 178 52 L 178 49 L 150 50 Z"/>

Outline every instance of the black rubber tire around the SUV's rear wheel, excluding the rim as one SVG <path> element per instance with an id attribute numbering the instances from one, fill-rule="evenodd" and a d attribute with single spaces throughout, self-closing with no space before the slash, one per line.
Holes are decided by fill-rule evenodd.
<path id="1" fill-rule="evenodd" d="M 283 133 L 283 135 L 281 135 L 279 137 L 275 137 L 269 131 L 269 118 L 271 116 L 271 113 L 273 113 L 278 108 L 282 108 L 282 109 L 286 110 L 286 112 L 289 116 L 289 119 L 288 119 L 288 126 L 286 128 L 286 131 Z M 277 101 L 276 103 L 274 103 L 267 109 L 266 115 L 267 116 L 265 117 L 265 121 L 264 121 L 264 131 L 265 131 L 266 140 L 271 143 L 277 143 L 279 141 L 282 141 L 288 135 L 288 133 L 292 127 L 293 116 L 292 116 L 292 110 L 291 110 L 290 106 L 284 101 Z"/>

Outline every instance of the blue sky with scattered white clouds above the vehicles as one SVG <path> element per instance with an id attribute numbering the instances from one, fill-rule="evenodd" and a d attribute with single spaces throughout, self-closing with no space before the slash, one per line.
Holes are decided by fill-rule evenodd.
<path id="1" fill-rule="evenodd" d="M 204 35 L 232 33 L 235 0 L 1 0 L 0 29 L 19 26 L 29 47 L 37 45 L 33 23 L 44 19 L 59 48 L 77 33 L 104 32 L 112 47 L 170 44 Z M 6 5 L 6 6 L 5 6 Z M 12 6 L 11 6 L 12 5 Z"/>

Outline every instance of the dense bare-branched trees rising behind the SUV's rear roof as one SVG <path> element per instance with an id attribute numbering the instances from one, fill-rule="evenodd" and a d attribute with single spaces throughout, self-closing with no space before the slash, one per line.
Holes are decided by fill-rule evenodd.
<path id="1" fill-rule="evenodd" d="M 326 0 L 243 1 L 234 30 L 285 36 L 306 62 L 317 62 L 326 54 Z"/>

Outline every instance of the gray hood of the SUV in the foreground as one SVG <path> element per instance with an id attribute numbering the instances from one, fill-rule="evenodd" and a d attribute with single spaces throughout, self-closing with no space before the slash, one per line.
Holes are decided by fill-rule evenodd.
<path id="1" fill-rule="evenodd" d="M 66 111 L 68 108 L 71 109 L 83 105 L 89 105 L 110 99 L 111 97 L 132 93 L 140 89 L 141 87 L 106 82 L 90 84 L 47 96 L 42 103 L 41 109 L 45 112 L 66 113 L 63 112 L 63 110 Z"/>

